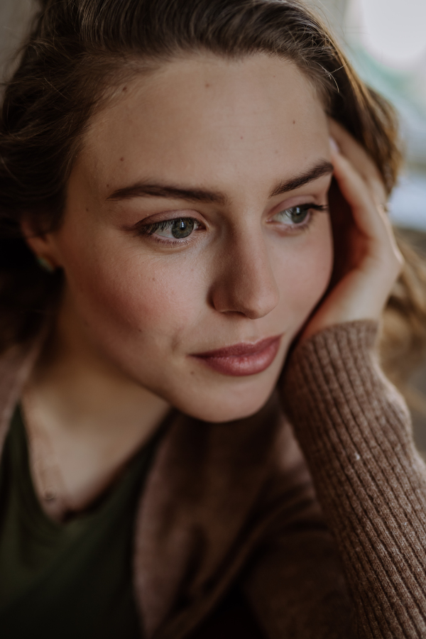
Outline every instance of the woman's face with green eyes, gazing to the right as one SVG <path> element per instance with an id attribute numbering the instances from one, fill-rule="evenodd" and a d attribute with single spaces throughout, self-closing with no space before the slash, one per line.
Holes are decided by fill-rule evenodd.
<path id="1" fill-rule="evenodd" d="M 306 205 L 327 204 L 331 171 L 324 109 L 290 62 L 206 55 L 137 77 L 92 121 L 49 237 L 68 325 L 185 413 L 255 413 L 329 282 L 329 215 Z"/>

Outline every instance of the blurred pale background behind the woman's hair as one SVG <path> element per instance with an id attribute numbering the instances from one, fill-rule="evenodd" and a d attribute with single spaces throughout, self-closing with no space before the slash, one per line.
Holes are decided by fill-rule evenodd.
<path id="1" fill-rule="evenodd" d="M 340 40 L 361 77 L 400 117 L 405 168 L 391 218 L 426 258 L 426 0 L 306 0 Z M 0 73 L 28 29 L 34 0 L 0 0 Z M 426 459 L 426 362 L 413 378 L 417 446 Z"/>

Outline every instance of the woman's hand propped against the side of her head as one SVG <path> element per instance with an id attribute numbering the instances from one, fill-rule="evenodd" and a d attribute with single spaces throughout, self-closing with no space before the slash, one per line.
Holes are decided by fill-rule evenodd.
<path id="1" fill-rule="evenodd" d="M 403 268 L 403 256 L 386 215 L 386 190 L 376 165 L 364 148 L 337 122 L 330 120 L 330 134 L 338 148 L 332 147 L 334 178 L 339 193 L 330 192 L 335 259 L 344 255 L 334 286 L 307 322 L 301 339 L 320 330 L 353 320 L 379 320 L 395 280 Z M 343 196 L 343 197 L 342 197 Z M 336 201 L 337 200 L 337 201 Z M 334 204 L 334 207 L 333 207 Z M 338 207 L 336 209 L 335 207 Z M 346 222 L 342 220 L 344 209 Z M 348 228 L 349 224 L 349 228 Z M 345 237 L 339 229 L 346 226 Z M 348 241 L 347 251 L 344 251 Z M 340 252 L 340 255 L 338 254 Z"/>

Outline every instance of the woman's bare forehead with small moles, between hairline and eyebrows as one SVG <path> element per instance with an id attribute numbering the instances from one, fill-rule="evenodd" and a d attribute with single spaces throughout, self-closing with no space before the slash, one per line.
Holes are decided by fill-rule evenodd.
<path id="1" fill-rule="evenodd" d="M 93 180 L 114 185 L 162 175 L 231 185 L 273 180 L 275 168 L 294 174 L 327 140 L 320 98 L 292 62 L 200 55 L 120 87 L 94 117 L 81 161 Z"/>

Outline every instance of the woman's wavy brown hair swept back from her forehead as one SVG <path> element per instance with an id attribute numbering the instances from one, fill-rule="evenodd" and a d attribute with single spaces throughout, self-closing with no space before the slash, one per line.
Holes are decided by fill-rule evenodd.
<path id="1" fill-rule="evenodd" d="M 61 221 L 67 180 L 95 109 L 126 77 L 177 55 L 256 52 L 292 60 L 327 111 L 375 160 L 388 192 L 398 173 L 395 115 L 349 65 L 320 18 L 297 0 L 43 0 L 0 121 L 0 350 L 29 339 L 55 308 L 60 273 L 44 273 L 20 232 Z M 426 275 L 407 264 L 388 302 L 383 348 L 397 370 L 426 342 Z M 399 368 L 398 368 L 399 367 Z"/>

